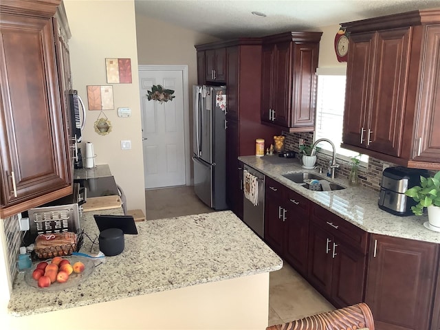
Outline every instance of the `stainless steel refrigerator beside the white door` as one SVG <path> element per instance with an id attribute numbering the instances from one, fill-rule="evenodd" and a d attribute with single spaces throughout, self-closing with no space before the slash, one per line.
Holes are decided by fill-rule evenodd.
<path id="1" fill-rule="evenodd" d="M 192 162 L 196 195 L 214 210 L 226 205 L 226 87 L 192 87 Z"/>

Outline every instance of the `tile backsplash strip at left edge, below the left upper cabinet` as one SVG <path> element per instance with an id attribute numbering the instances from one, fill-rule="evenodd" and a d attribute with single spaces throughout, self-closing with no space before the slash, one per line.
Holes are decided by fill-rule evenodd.
<path id="1" fill-rule="evenodd" d="M 17 274 L 17 255 L 20 252 L 21 241 L 25 232 L 22 232 L 19 227 L 18 215 L 13 215 L 6 219 L 1 219 L 5 228 L 6 248 L 8 251 L 8 265 L 12 280 Z"/>

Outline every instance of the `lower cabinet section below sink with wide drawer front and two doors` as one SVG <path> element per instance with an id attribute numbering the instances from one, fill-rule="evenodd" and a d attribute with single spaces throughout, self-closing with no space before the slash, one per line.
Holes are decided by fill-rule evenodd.
<path id="1" fill-rule="evenodd" d="M 366 232 L 318 205 L 310 217 L 307 280 L 338 308 L 362 302 Z"/>

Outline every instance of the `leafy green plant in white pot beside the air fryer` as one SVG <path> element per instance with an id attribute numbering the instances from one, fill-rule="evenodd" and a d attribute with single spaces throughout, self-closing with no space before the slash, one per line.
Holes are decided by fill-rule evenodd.
<path id="1" fill-rule="evenodd" d="M 440 232 L 440 171 L 433 177 L 420 176 L 420 186 L 406 190 L 405 195 L 414 199 L 417 204 L 411 207 L 412 213 L 422 215 L 428 209 L 427 228 Z"/>

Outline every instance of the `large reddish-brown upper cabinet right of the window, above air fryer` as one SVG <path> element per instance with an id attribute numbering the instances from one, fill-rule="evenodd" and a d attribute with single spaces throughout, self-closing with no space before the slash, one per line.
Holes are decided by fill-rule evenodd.
<path id="1" fill-rule="evenodd" d="M 342 146 L 440 169 L 440 10 L 343 23 L 350 33 Z"/>

